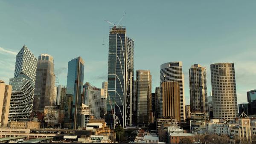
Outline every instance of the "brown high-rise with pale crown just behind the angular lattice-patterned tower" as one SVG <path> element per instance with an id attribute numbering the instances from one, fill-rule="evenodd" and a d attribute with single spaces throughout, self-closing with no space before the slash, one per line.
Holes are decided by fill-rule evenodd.
<path id="1" fill-rule="evenodd" d="M 45 106 L 54 106 L 55 75 L 53 57 L 41 54 L 38 57 L 33 111 L 44 112 Z"/>

